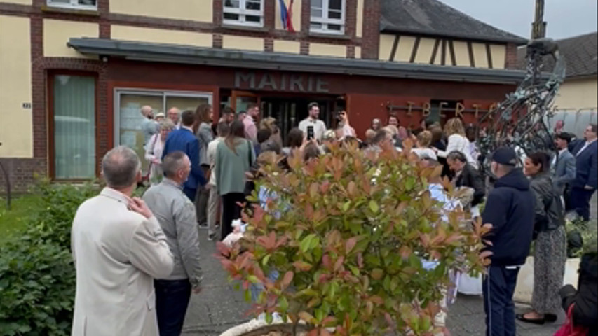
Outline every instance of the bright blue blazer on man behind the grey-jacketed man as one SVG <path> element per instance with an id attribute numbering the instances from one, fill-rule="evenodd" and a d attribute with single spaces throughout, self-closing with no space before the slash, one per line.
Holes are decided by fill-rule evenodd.
<path id="1" fill-rule="evenodd" d="M 203 176 L 203 171 L 199 164 L 199 148 L 199 139 L 197 139 L 195 134 L 182 127 L 179 130 L 170 132 L 168 139 L 166 139 L 166 144 L 164 144 L 162 158 L 168 155 L 168 153 L 182 151 L 191 160 L 191 174 L 189 174 L 189 179 L 184 183 L 184 188 L 197 189 L 198 186 L 205 185 L 205 176 Z"/>

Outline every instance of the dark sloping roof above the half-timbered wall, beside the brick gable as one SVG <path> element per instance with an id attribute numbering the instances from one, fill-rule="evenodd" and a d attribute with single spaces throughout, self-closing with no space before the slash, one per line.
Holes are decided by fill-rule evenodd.
<path id="1" fill-rule="evenodd" d="M 381 16 L 381 31 L 527 43 L 525 38 L 487 25 L 437 0 L 382 0 Z"/>

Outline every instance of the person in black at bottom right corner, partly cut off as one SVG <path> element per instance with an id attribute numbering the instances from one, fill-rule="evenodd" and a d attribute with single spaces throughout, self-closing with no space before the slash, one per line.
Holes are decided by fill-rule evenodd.
<path id="1" fill-rule="evenodd" d="M 566 285 L 559 291 L 563 309 L 573 306 L 573 325 L 589 328 L 587 335 L 598 335 L 598 246 L 592 241 L 581 257 L 577 290 Z"/>

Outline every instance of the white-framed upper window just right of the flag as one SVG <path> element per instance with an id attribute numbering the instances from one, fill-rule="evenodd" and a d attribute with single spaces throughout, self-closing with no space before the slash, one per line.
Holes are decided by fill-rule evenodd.
<path id="1" fill-rule="evenodd" d="M 345 0 L 311 0 L 310 31 L 345 34 Z"/>

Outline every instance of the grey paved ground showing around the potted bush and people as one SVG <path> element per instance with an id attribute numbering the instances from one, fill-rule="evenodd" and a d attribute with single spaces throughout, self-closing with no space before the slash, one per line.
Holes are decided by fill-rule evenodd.
<path id="1" fill-rule="evenodd" d="M 236 292 L 226 279 L 226 273 L 213 257 L 215 243 L 205 239 L 205 230 L 201 230 L 201 252 L 205 282 L 202 293 L 193 295 L 187 312 L 184 335 L 217 336 L 224 330 L 238 325 L 249 318 L 245 311 L 249 307 L 243 295 Z M 526 307 L 517 307 L 525 311 Z M 553 335 L 564 315 L 557 323 L 538 326 L 517 323 L 517 335 L 546 336 Z M 456 303 L 449 308 L 449 330 L 454 336 L 470 336 L 484 334 L 484 309 L 481 297 L 459 296 Z"/>

